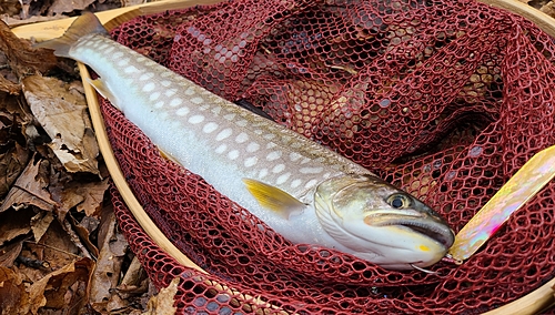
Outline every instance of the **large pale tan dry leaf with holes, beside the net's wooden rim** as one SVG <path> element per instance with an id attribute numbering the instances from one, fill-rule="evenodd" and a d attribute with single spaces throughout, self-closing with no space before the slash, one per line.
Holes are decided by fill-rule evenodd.
<path id="1" fill-rule="evenodd" d="M 69 172 L 99 174 L 99 149 L 87 102 L 58 79 L 32 75 L 23 80 L 23 92 L 31 111 L 48 135 L 50 148 Z"/>

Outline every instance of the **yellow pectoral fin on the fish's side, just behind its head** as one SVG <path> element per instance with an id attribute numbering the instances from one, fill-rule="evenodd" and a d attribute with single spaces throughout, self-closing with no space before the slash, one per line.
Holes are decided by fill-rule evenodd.
<path id="1" fill-rule="evenodd" d="M 243 179 L 243 183 L 260 205 L 278 213 L 286 220 L 291 215 L 302 213 L 306 206 L 294 196 L 275 186 L 251 179 Z"/>

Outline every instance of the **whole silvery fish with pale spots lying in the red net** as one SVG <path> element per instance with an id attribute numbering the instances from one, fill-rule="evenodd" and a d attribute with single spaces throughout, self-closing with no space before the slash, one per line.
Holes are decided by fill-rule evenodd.
<path id="1" fill-rule="evenodd" d="M 90 83 L 158 149 L 293 244 L 387 270 L 442 260 L 443 217 L 367 169 L 113 41 L 93 13 L 37 44 L 90 67 Z"/>

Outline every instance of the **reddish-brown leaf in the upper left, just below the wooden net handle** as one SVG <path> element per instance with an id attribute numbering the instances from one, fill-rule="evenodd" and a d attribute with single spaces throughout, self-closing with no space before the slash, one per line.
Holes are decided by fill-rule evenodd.
<path id="1" fill-rule="evenodd" d="M 13 34 L 3 21 L 0 21 L 0 51 L 19 80 L 37 72 L 44 73 L 57 63 L 51 51 L 32 48 L 28 40 Z"/>

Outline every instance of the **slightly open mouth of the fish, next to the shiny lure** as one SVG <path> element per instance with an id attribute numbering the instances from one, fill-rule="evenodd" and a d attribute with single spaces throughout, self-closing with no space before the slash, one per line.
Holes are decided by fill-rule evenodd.
<path id="1" fill-rule="evenodd" d="M 425 235 L 450 248 L 455 241 L 455 234 L 447 224 L 437 216 L 427 213 L 408 212 L 406 214 L 377 213 L 364 217 L 364 222 L 373 226 L 401 226 Z"/>

